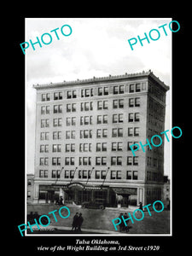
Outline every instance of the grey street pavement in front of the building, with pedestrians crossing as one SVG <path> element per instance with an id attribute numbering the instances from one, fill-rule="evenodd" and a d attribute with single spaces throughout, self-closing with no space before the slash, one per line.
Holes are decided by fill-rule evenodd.
<path id="1" fill-rule="evenodd" d="M 137 221 L 132 216 L 133 210 L 129 208 L 106 208 L 104 210 L 100 209 L 84 209 L 80 206 L 68 205 L 70 210 L 70 216 L 68 218 L 61 218 L 59 215 L 59 209 L 62 206 L 56 206 L 54 204 L 44 204 L 44 205 L 27 205 L 27 213 L 38 212 L 38 215 L 47 215 L 50 218 L 50 224 L 47 227 L 43 227 L 40 230 L 35 226 L 32 228 L 34 230 L 31 232 L 27 230 L 27 234 L 79 234 L 79 232 L 72 231 L 73 216 L 75 212 L 81 212 L 84 218 L 82 224 L 82 234 L 112 234 L 112 235 L 126 235 L 126 234 L 170 234 L 170 211 L 164 210 L 163 212 L 151 211 L 152 216 L 148 215 L 148 212 L 144 212 L 144 218 L 141 221 Z M 49 212 L 55 211 L 55 217 Z M 65 212 L 66 211 L 66 212 Z M 129 231 L 128 233 L 119 232 L 114 229 L 112 219 L 118 218 L 119 213 L 130 212 L 133 218 L 134 224 L 131 220 L 128 223 Z M 67 216 L 67 210 L 62 209 L 61 214 Z M 136 217 L 141 218 L 141 212 L 136 212 Z M 38 220 L 38 218 L 37 218 Z"/>

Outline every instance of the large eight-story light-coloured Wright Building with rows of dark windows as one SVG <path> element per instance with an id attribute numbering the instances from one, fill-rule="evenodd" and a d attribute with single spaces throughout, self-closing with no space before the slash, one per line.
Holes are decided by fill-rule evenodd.
<path id="1" fill-rule="evenodd" d="M 161 199 L 164 139 L 159 148 L 131 144 L 164 131 L 166 86 L 150 70 L 37 84 L 34 201 L 59 196 L 108 206 Z"/>

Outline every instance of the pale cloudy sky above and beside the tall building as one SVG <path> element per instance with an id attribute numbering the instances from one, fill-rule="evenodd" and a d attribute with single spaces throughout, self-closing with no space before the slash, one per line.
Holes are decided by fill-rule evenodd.
<path id="1" fill-rule="evenodd" d="M 35 154 L 35 102 L 33 84 L 49 84 L 76 79 L 91 79 L 125 73 L 151 71 L 170 86 L 166 96 L 166 127 L 172 129 L 172 32 L 168 28 L 171 18 L 155 19 L 100 19 L 100 18 L 26 18 L 25 41 L 37 42 L 44 33 L 52 36 L 50 44 L 34 44 L 26 49 L 26 172 L 34 173 Z M 167 36 L 159 26 L 165 26 Z M 61 26 L 72 28 L 70 36 L 61 33 Z M 59 40 L 55 32 L 56 28 Z M 69 30 L 63 28 L 64 33 Z M 144 38 L 144 32 L 157 29 L 158 40 L 143 40 L 131 50 L 128 39 Z M 157 33 L 151 32 L 152 38 Z M 49 36 L 44 35 L 49 43 Z M 20 42 L 23 43 L 23 42 Z M 22 54 L 22 51 L 20 52 Z M 171 143 L 165 141 L 165 175 L 171 170 Z"/>

